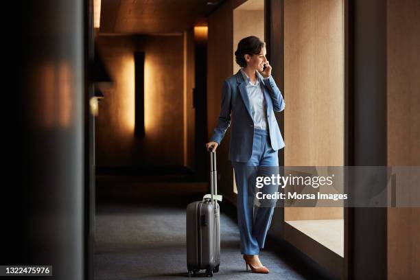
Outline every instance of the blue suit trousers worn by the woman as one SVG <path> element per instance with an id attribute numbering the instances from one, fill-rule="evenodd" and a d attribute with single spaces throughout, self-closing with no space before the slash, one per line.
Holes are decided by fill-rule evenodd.
<path id="1" fill-rule="evenodd" d="M 267 169 L 261 174 L 261 168 L 257 167 L 279 166 L 278 152 L 272 150 L 268 132 L 255 129 L 253 153 L 250 159 L 246 163 L 232 161 L 232 165 L 237 187 L 237 221 L 241 237 L 241 254 L 258 255 L 259 249 L 264 248 L 274 206 L 255 206 L 256 177 L 271 176 L 264 174 L 264 172 L 271 173 Z"/>

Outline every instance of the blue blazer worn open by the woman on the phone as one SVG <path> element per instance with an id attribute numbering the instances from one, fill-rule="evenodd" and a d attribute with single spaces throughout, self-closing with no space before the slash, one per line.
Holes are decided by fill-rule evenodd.
<path id="1" fill-rule="evenodd" d="M 281 95 L 272 76 L 268 79 L 262 79 L 262 76 L 257 75 L 257 78 L 262 84 L 264 98 L 267 104 L 266 116 L 271 147 L 273 150 L 279 150 L 285 144 L 283 137 L 281 137 L 274 112 L 284 110 L 285 102 L 283 95 Z M 222 87 L 222 108 L 210 141 L 215 141 L 220 144 L 224 133 L 231 124 L 229 160 L 247 162 L 253 153 L 254 121 L 250 113 L 246 81 L 240 71 L 237 71 L 235 75 L 224 80 Z"/>

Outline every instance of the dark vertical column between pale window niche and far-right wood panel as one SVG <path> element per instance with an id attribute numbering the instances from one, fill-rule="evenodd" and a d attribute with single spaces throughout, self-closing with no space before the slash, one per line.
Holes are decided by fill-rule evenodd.
<path id="1" fill-rule="evenodd" d="M 349 164 L 386 166 L 386 1 L 358 0 L 350 5 L 353 155 Z M 360 186 L 355 176 L 351 189 Z M 349 218 L 353 243 L 349 278 L 386 279 L 386 208 L 354 208 Z"/>

